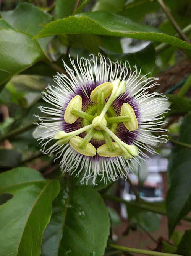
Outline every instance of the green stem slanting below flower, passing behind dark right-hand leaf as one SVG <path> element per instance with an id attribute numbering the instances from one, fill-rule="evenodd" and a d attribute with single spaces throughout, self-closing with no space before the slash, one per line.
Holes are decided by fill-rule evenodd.
<path id="1" fill-rule="evenodd" d="M 124 203 L 126 205 L 135 206 L 135 207 L 138 207 L 138 208 L 140 208 L 142 210 L 147 210 L 147 211 L 150 211 L 150 212 L 155 212 L 155 213 L 158 213 L 158 214 L 161 214 L 161 215 L 167 215 L 165 210 L 163 210 L 162 208 L 157 208 L 157 207 L 152 206 L 152 205 L 146 205 L 146 204 L 142 204 L 142 203 L 136 203 L 136 202 L 132 202 L 132 201 L 127 201 L 125 199 L 122 199 L 120 197 L 115 197 L 115 196 L 112 196 L 112 195 L 102 195 L 102 197 L 104 199 L 115 201 L 115 202 L 118 202 L 118 203 Z M 187 221 L 191 222 L 191 217 L 185 216 L 185 217 L 183 217 L 183 220 L 187 220 Z"/>

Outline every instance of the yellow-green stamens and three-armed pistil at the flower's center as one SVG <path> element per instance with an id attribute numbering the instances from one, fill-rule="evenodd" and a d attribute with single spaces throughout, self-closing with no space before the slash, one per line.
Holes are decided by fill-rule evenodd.
<path id="1" fill-rule="evenodd" d="M 86 112 L 81 110 L 82 98 L 79 95 L 73 97 L 66 107 L 64 120 L 66 123 L 72 124 L 78 117 L 81 117 L 83 118 L 83 127 L 68 133 L 59 131 L 54 137 L 57 144 L 69 142 L 75 151 L 85 156 L 98 154 L 104 157 L 123 156 L 124 159 L 137 156 L 138 149 L 134 145 L 126 144 L 115 135 L 117 125 L 120 122 L 123 122 L 128 131 L 132 132 L 138 128 L 136 115 L 128 103 L 123 103 L 121 106 L 120 116 L 117 116 L 111 107 L 113 101 L 125 91 L 125 81 L 115 80 L 112 83 L 100 84 L 92 90 L 90 99 L 92 103 L 95 103 Z M 104 102 L 105 99 L 107 99 L 106 103 Z M 83 132 L 86 132 L 84 138 L 77 136 Z M 96 149 L 90 143 L 92 138 L 105 140 L 105 144 Z"/>

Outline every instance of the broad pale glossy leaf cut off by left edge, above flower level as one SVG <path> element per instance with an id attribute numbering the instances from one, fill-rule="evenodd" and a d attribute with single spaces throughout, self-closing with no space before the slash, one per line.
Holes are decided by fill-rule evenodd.
<path id="1" fill-rule="evenodd" d="M 0 28 L 0 85 L 43 57 L 39 44 L 31 36 Z"/>

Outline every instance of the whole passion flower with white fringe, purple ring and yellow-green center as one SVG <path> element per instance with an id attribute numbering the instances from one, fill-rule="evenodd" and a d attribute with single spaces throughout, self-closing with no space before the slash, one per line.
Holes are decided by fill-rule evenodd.
<path id="1" fill-rule="evenodd" d="M 142 76 L 129 63 L 99 55 L 64 62 L 66 74 L 57 74 L 57 85 L 48 86 L 40 106 L 48 117 L 39 117 L 34 131 L 45 154 L 56 153 L 63 172 L 81 174 L 81 182 L 99 176 L 104 182 L 124 178 L 155 153 L 158 142 L 167 141 L 162 114 L 168 100 L 148 89 L 157 86 L 157 78 Z M 157 135 L 154 135 L 156 133 Z"/>

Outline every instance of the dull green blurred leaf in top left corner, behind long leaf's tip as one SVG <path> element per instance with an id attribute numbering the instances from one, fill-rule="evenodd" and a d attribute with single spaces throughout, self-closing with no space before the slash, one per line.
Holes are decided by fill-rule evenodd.
<path id="1" fill-rule="evenodd" d="M 13 11 L 2 11 L 3 19 L 8 22 L 16 30 L 35 36 L 42 30 L 45 23 L 48 23 L 52 16 L 44 13 L 40 8 L 30 3 L 19 3 Z M 49 39 L 39 39 L 42 49 L 46 49 Z"/>

